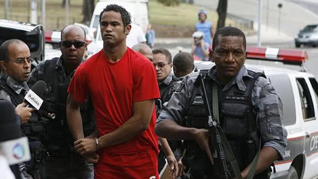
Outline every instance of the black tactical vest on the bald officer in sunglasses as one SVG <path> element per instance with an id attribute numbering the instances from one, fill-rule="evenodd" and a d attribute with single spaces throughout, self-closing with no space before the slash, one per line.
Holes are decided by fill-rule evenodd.
<path id="1" fill-rule="evenodd" d="M 67 150 L 73 151 L 73 137 L 68 128 L 66 115 L 66 103 L 68 98 L 68 85 L 71 76 L 62 84 L 59 83 L 56 63 L 58 58 L 46 60 L 44 65 L 45 74 L 43 80 L 46 82 L 46 90 L 42 108 L 49 113 L 55 113 L 55 119 L 48 119 L 45 125 L 45 145 L 49 150 Z M 83 121 L 84 135 L 91 134 L 94 130 L 94 114 L 91 100 L 80 106 Z"/>

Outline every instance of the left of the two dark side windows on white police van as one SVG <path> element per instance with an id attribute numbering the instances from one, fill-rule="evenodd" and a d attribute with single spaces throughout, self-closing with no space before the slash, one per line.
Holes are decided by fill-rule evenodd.
<path id="1" fill-rule="evenodd" d="M 303 119 L 305 120 L 315 117 L 313 100 L 311 98 L 310 91 L 308 89 L 305 79 L 296 78 L 296 82 L 299 90 Z"/>

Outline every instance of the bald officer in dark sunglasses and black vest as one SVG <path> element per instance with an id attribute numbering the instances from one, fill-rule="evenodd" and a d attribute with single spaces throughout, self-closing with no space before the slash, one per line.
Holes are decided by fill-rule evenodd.
<path id="1" fill-rule="evenodd" d="M 93 166 L 84 157 L 75 153 L 74 139 L 68 128 L 66 102 L 68 84 L 75 69 L 83 62 L 86 50 L 86 34 L 82 27 L 68 25 L 61 32 L 59 43 L 61 57 L 40 63 L 31 73 L 28 80 L 32 86 L 38 80 L 46 82 L 42 108 L 56 115 L 55 119 L 46 118 L 44 144 L 49 158 L 45 160 L 47 179 L 92 179 Z M 94 116 L 91 100 L 81 106 L 84 134 L 94 131 Z"/>

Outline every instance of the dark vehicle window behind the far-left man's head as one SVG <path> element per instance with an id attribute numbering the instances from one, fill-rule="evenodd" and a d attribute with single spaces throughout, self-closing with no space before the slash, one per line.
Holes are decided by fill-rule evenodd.
<path id="1" fill-rule="evenodd" d="M 9 35 L 10 34 L 10 35 Z M 13 29 L 1 29 L 0 33 L 0 45 L 9 39 L 20 39 L 22 40 L 30 49 L 30 52 L 35 52 L 39 49 L 40 41 L 39 34 L 36 31 L 23 31 L 23 30 L 13 30 Z"/>

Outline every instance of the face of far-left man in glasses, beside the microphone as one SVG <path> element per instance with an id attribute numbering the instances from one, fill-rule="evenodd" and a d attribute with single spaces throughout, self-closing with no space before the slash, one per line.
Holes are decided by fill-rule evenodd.
<path id="1" fill-rule="evenodd" d="M 25 82 L 31 72 L 29 47 L 24 43 L 13 43 L 8 46 L 8 57 L 6 62 L 1 61 L 2 69 L 18 83 Z"/>

